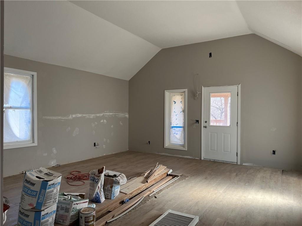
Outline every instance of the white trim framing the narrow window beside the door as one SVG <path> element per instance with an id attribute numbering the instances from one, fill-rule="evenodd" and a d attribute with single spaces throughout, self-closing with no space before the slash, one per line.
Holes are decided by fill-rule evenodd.
<path id="1" fill-rule="evenodd" d="M 184 122 L 184 145 L 175 145 L 170 143 L 170 119 L 171 119 L 171 93 L 185 93 L 185 122 Z M 165 90 L 165 137 L 164 148 L 187 150 L 187 105 L 188 89 L 169 89 Z"/>

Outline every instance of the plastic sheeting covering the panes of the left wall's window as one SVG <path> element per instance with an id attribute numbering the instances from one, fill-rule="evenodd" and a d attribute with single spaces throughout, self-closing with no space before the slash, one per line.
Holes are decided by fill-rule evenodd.
<path id="1" fill-rule="evenodd" d="M 3 142 L 32 141 L 32 77 L 4 73 Z"/>

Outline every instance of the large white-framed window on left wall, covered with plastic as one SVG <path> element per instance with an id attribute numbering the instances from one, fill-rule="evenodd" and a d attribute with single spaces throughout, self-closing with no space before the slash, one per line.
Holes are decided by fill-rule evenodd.
<path id="1" fill-rule="evenodd" d="M 36 79 L 36 72 L 4 68 L 4 149 L 37 145 Z"/>

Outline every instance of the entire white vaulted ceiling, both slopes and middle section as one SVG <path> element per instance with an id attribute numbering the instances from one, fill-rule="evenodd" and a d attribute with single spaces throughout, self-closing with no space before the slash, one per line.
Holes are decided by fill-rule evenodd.
<path id="1" fill-rule="evenodd" d="M 302 1 L 5 1 L 4 53 L 129 80 L 160 49 L 255 33 L 301 53 Z"/>

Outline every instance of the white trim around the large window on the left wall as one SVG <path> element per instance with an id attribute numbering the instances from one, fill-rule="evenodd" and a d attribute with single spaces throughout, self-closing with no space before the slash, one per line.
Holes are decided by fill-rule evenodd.
<path id="1" fill-rule="evenodd" d="M 33 133 L 33 141 L 32 143 L 27 143 L 27 142 L 10 142 L 10 143 L 3 143 L 3 149 L 11 149 L 11 148 L 22 148 L 22 147 L 31 147 L 31 146 L 37 146 L 37 72 L 33 71 L 24 71 L 24 70 L 19 70 L 19 69 L 14 69 L 14 68 L 9 68 L 9 67 L 4 67 L 4 73 L 11 73 L 11 74 L 20 74 L 20 75 L 26 75 L 32 76 L 32 133 Z"/>

